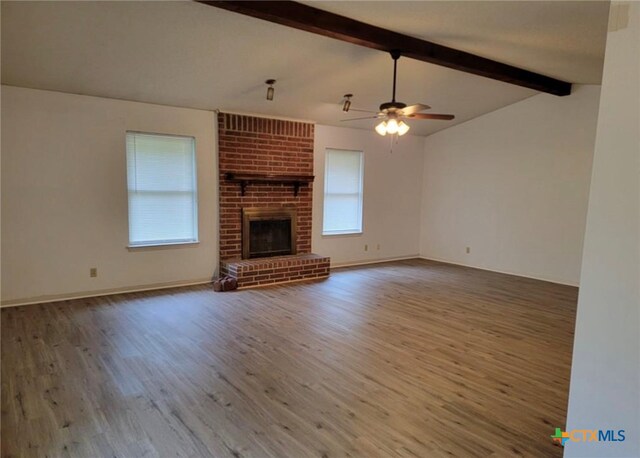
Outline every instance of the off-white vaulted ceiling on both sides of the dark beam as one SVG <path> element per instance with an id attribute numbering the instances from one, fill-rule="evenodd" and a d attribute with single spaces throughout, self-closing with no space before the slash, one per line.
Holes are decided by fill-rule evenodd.
<path id="1" fill-rule="evenodd" d="M 384 28 L 572 83 L 599 84 L 608 2 L 309 2 Z M 536 94 L 401 59 L 398 99 L 454 121 L 411 121 L 428 135 Z M 267 78 L 276 97 L 265 100 Z M 2 2 L 2 83 L 370 129 L 340 109 L 391 98 L 382 52 L 193 2 Z M 352 116 L 353 115 L 353 116 Z"/>

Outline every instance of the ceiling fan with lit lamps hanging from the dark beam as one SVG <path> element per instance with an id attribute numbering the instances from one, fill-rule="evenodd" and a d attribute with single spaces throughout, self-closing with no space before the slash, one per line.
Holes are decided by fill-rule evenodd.
<path id="1" fill-rule="evenodd" d="M 375 116 L 365 116 L 363 118 L 351 118 L 351 119 L 343 119 L 342 121 L 357 121 L 361 119 L 382 119 L 382 122 L 376 126 L 376 132 L 380 135 L 387 134 L 398 134 L 404 135 L 409 131 L 409 125 L 404 122 L 404 119 L 440 119 L 449 121 L 455 118 L 454 115 L 449 114 L 431 114 L 431 113 L 420 113 L 421 111 L 428 110 L 431 108 L 429 105 L 424 105 L 422 103 L 416 103 L 415 105 L 407 106 L 406 103 L 396 102 L 396 75 L 397 75 L 397 67 L 398 67 L 398 59 L 400 58 L 400 51 L 394 50 L 390 52 L 391 58 L 393 59 L 393 94 L 391 97 L 391 102 L 385 102 L 380 105 L 380 111 L 368 111 L 368 110 L 359 110 L 353 108 L 353 111 L 362 111 L 365 113 L 376 113 Z M 348 94 L 351 95 L 351 94 Z M 345 105 L 347 107 L 344 111 L 349 111 L 351 103 L 349 105 Z"/>

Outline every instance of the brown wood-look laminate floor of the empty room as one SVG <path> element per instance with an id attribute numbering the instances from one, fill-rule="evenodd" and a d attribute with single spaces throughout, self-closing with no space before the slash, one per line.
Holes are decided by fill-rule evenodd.
<path id="1" fill-rule="evenodd" d="M 576 300 L 411 260 L 4 309 L 2 455 L 561 456 Z"/>

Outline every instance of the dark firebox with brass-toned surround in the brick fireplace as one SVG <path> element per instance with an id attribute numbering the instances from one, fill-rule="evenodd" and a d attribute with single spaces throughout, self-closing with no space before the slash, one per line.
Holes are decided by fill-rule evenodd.
<path id="1" fill-rule="evenodd" d="M 242 258 L 296 254 L 294 208 L 243 208 Z"/>

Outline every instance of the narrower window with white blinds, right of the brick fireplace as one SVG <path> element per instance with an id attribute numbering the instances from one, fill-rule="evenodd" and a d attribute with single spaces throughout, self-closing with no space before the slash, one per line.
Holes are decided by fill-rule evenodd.
<path id="1" fill-rule="evenodd" d="M 362 151 L 327 149 L 322 234 L 362 233 Z"/>

